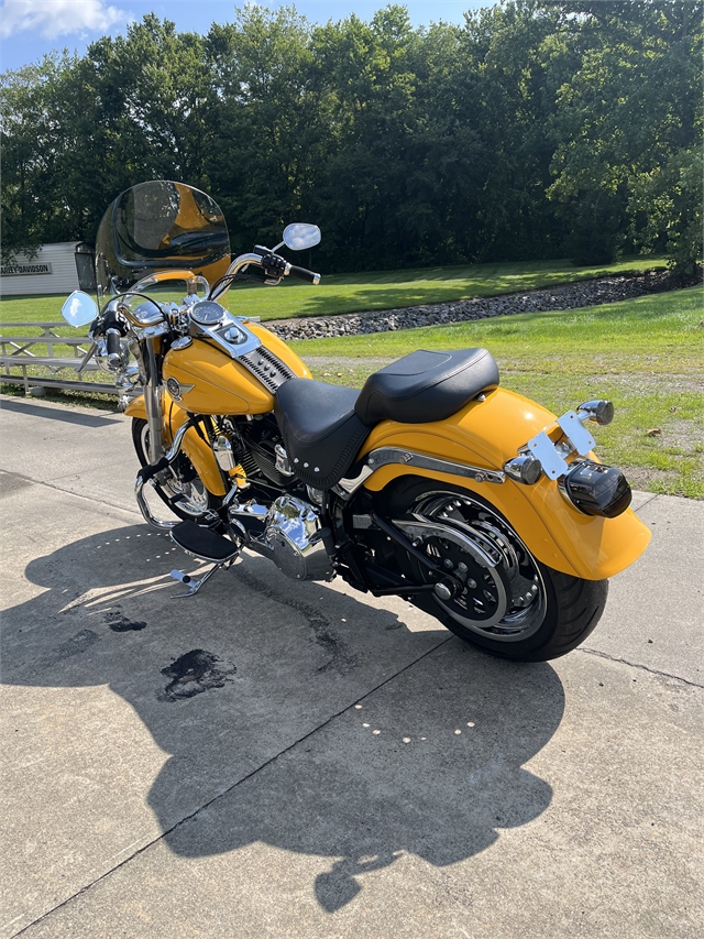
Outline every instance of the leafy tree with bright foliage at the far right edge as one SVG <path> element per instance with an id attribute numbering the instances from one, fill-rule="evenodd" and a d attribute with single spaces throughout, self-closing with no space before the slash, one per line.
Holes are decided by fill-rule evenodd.
<path id="1" fill-rule="evenodd" d="M 701 148 L 703 6 L 634 0 L 563 9 L 584 51 L 558 91 L 560 143 L 548 195 L 573 219 L 572 255 L 606 261 L 629 231 L 637 244 L 653 243 L 659 210 L 644 200 L 680 185 L 679 173 L 666 167 L 675 154 Z M 694 196 L 695 188 L 685 190 Z M 645 229 L 638 214 L 650 219 Z"/>

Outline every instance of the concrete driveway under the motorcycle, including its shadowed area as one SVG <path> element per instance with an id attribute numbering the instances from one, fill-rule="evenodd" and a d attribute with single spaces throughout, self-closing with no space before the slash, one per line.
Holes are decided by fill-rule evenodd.
<path id="1" fill-rule="evenodd" d="M 173 599 L 129 421 L 0 422 L 1 936 L 703 935 L 704 503 L 514 665 L 253 556 Z"/>

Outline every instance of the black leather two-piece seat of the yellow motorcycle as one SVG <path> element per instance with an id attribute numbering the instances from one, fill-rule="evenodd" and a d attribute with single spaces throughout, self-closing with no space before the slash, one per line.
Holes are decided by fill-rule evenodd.
<path id="1" fill-rule="evenodd" d="M 361 392 L 289 379 L 277 390 L 275 414 L 296 476 L 330 489 L 380 421 L 444 421 L 497 385 L 498 368 L 486 349 L 419 351 L 374 372 Z"/>

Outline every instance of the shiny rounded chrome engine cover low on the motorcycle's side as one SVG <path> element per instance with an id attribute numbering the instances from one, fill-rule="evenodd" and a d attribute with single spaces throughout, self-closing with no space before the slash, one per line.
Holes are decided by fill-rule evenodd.
<path id="1" fill-rule="evenodd" d="M 332 580 L 332 561 L 322 542 L 320 515 L 312 505 L 282 495 L 268 510 L 264 538 L 274 564 L 294 580 Z"/>

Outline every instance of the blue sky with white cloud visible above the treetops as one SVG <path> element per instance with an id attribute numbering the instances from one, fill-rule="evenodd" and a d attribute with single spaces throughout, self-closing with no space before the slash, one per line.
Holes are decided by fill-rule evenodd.
<path id="1" fill-rule="evenodd" d="M 389 0 L 258 0 L 262 7 L 295 6 L 312 22 L 342 20 L 351 13 L 369 20 Z M 402 0 L 403 2 L 403 0 Z M 465 10 L 491 7 L 497 0 L 406 0 L 415 26 L 438 20 L 462 23 Z M 123 33 L 127 24 L 154 12 L 173 20 L 179 31 L 208 32 L 212 22 L 232 21 L 244 0 L 2 0 L 0 6 L 0 70 L 41 61 L 53 50 L 77 51 L 102 35 Z"/>

